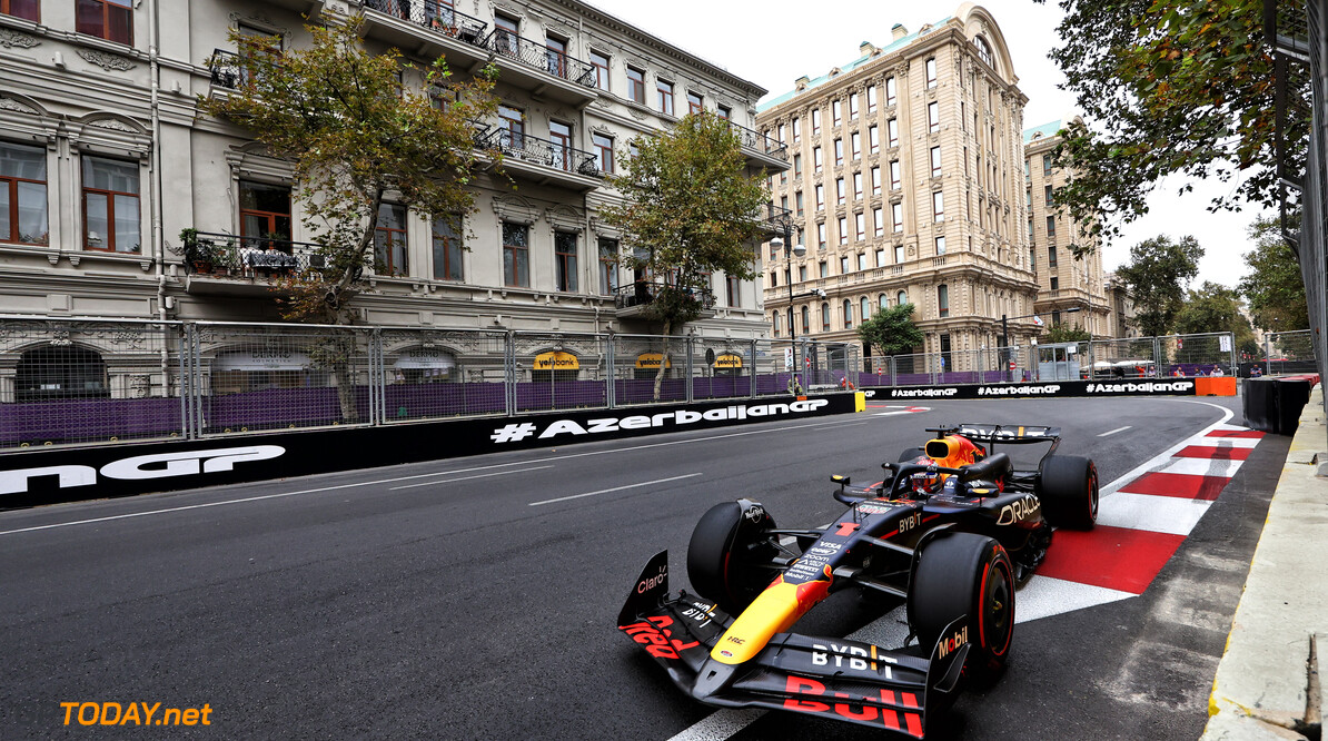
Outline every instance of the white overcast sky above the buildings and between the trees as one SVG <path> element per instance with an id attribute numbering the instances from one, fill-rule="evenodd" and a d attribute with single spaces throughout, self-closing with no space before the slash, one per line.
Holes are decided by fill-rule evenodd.
<path id="1" fill-rule="evenodd" d="M 806 74 L 817 77 L 833 66 L 857 60 L 858 45 L 890 42 L 890 28 L 902 23 L 910 32 L 924 23 L 955 15 L 959 3 L 849 1 L 813 3 L 754 0 L 588 0 L 595 7 L 653 33 L 712 64 L 768 89 L 770 97 L 793 89 L 793 81 Z M 1074 98 L 1057 89 L 1064 76 L 1046 53 L 1060 44 L 1056 25 L 1061 11 L 1054 0 L 1038 5 L 1032 0 L 988 0 L 985 7 L 1015 57 L 1019 88 L 1028 96 L 1024 126 L 1064 120 L 1073 112 Z M 1114 270 L 1129 259 L 1129 250 L 1150 236 L 1193 235 L 1206 250 L 1199 263 L 1199 280 L 1235 286 L 1244 275 L 1240 259 L 1251 248 L 1246 226 L 1256 210 L 1239 214 L 1210 214 L 1204 206 L 1214 194 L 1230 193 L 1231 186 L 1198 182 L 1194 193 L 1174 195 L 1185 181 L 1173 178 L 1149 201 L 1149 215 L 1125 227 L 1125 235 L 1108 244 L 1102 266 Z"/>

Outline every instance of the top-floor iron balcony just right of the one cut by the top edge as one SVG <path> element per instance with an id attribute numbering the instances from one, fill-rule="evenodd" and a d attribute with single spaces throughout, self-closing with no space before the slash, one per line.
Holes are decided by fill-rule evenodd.
<path id="1" fill-rule="evenodd" d="M 483 46 L 493 52 L 499 76 L 509 84 L 576 105 L 587 105 L 599 97 L 595 66 L 547 44 L 494 28 L 485 37 Z"/>

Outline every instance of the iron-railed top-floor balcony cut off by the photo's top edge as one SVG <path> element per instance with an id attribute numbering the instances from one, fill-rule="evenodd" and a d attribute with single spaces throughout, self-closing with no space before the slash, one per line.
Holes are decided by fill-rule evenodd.
<path id="1" fill-rule="evenodd" d="M 446 57 L 454 66 L 478 66 L 489 60 L 489 24 L 425 0 L 364 0 L 365 36 L 402 49 L 422 49 Z"/>

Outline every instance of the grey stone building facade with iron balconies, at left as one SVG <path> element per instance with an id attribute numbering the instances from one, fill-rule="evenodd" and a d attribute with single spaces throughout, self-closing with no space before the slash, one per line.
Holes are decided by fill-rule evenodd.
<path id="1" fill-rule="evenodd" d="M 364 13 L 371 50 L 456 74 L 499 69 L 501 114 L 477 141 L 507 174 L 474 177 L 465 250 L 426 214 L 385 206 L 357 323 L 546 332 L 656 332 L 624 305 L 633 276 L 598 218 L 628 142 L 689 110 L 725 116 L 753 171 L 780 171 L 756 131 L 760 86 L 576 0 L 33 0 L 0 12 L 0 313 L 276 321 L 272 270 L 315 270 L 291 167 L 243 129 L 198 114 L 238 80 L 228 32 L 308 42 L 301 15 Z M 422 88 L 406 73 L 404 84 Z M 515 187 L 513 187 L 515 182 Z M 182 231 L 219 256 L 202 272 Z M 278 252 L 247 258 L 255 247 Z M 272 268 L 272 270 L 263 270 Z M 712 276 L 691 332 L 768 333 L 756 282 Z"/>

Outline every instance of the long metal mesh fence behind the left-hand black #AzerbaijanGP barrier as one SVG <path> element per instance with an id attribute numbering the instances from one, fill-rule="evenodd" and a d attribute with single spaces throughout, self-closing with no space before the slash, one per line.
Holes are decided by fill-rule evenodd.
<path id="1" fill-rule="evenodd" d="M 788 343 L 0 317 L 0 450 L 753 398 L 857 381 L 851 345 L 802 341 L 789 357 L 778 345 Z"/>

